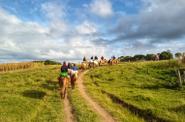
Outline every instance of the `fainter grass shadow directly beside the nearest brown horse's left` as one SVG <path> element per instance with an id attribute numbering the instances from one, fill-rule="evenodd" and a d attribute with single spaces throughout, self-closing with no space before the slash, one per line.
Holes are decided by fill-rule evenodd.
<path id="1" fill-rule="evenodd" d="M 45 83 L 41 84 L 41 87 L 44 88 L 44 89 L 48 89 L 48 90 L 53 91 L 53 90 L 57 89 L 59 86 L 58 86 L 57 81 L 47 80 Z"/>

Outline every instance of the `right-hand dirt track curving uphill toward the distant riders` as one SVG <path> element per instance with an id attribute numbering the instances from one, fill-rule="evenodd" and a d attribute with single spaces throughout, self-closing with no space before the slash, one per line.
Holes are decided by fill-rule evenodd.
<path id="1" fill-rule="evenodd" d="M 107 111 L 105 111 L 98 103 L 91 99 L 91 97 L 87 94 L 82 80 L 82 77 L 86 72 L 87 71 L 80 73 L 77 81 L 77 86 L 78 90 L 80 91 L 80 94 L 87 101 L 87 103 L 89 103 L 89 105 L 95 110 L 95 112 L 100 115 L 102 122 L 115 122 L 112 116 Z"/>

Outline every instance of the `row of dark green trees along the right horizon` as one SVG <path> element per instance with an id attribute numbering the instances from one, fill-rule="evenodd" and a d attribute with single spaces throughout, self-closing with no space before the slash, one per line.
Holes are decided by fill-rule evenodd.
<path id="1" fill-rule="evenodd" d="M 180 58 L 183 55 L 181 52 L 175 53 L 176 58 Z M 134 56 L 120 56 L 118 59 L 121 62 L 130 62 L 130 61 L 158 61 L 158 60 L 169 60 L 174 58 L 173 53 L 170 51 L 163 51 L 157 54 L 137 54 Z"/>

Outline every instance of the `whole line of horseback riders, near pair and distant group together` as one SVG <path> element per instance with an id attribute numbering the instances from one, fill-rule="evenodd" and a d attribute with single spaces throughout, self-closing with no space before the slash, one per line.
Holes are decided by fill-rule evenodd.
<path id="1" fill-rule="evenodd" d="M 110 60 L 106 60 L 103 56 L 98 59 L 97 56 L 91 57 L 90 61 L 87 61 L 86 57 L 83 58 L 83 62 L 81 63 L 80 69 L 87 69 L 92 68 L 95 66 L 105 65 L 105 64 L 114 64 L 117 63 L 117 59 L 115 56 L 112 56 Z M 60 69 L 60 75 L 58 77 L 59 80 L 59 86 L 60 86 L 60 94 L 62 98 L 65 98 L 65 95 L 67 93 L 67 87 L 69 86 L 69 83 L 71 84 L 71 87 L 75 87 L 75 82 L 78 78 L 79 73 L 79 67 L 74 63 L 66 63 L 63 62 L 61 69 Z"/>

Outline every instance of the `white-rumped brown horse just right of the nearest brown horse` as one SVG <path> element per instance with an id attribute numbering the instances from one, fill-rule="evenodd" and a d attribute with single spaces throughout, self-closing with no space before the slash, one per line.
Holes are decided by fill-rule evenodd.
<path id="1" fill-rule="evenodd" d="M 71 83 L 71 87 L 72 89 L 75 88 L 75 83 L 76 83 L 76 80 L 78 78 L 78 71 L 74 71 L 72 69 L 69 69 L 68 70 L 68 73 L 70 75 L 70 83 Z"/>

